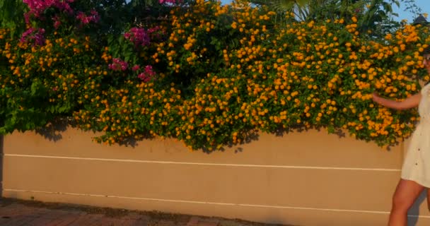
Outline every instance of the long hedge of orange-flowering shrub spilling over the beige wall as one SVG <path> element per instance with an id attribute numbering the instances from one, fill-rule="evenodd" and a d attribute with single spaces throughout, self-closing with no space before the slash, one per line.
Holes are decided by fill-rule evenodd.
<path id="1" fill-rule="evenodd" d="M 160 36 L 144 47 L 54 34 L 32 46 L 1 30 L 0 132 L 70 117 L 102 131 L 98 142 L 172 137 L 206 150 L 297 128 L 381 146 L 410 136 L 417 111 L 386 109 L 371 94 L 401 100 L 430 80 L 421 56 L 429 28 L 404 25 L 373 40 L 357 18 L 278 25 L 274 16 L 247 2 L 197 0 L 150 25 Z"/>

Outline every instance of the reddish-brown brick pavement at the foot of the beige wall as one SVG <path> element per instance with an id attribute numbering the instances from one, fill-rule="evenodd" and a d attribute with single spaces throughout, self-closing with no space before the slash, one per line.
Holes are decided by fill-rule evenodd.
<path id="1" fill-rule="evenodd" d="M 265 224 L 0 198 L 0 226 L 262 226 Z"/>

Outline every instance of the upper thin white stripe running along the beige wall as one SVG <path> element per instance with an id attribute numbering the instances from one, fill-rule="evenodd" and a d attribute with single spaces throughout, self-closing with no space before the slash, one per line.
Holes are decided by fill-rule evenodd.
<path id="1" fill-rule="evenodd" d="M 4 154 L 4 156 L 5 157 L 35 157 L 35 158 L 64 159 L 64 160 L 105 161 L 105 162 L 132 162 L 132 163 L 147 163 L 147 164 L 203 165 L 203 166 L 216 166 L 216 167 L 261 167 L 261 168 L 284 168 L 284 169 L 334 169 L 334 170 L 400 172 L 400 169 L 385 169 L 385 168 L 309 167 L 309 166 L 296 166 L 296 165 L 250 165 L 250 164 L 223 164 L 223 163 L 207 163 L 207 162 L 172 162 L 172 161 L 149 161 L 149 160 L 124 160 L 124 159 L 95 158 L 95 157 L 66 157 L 66 156 L 54 156 L 54 155 Z"/>

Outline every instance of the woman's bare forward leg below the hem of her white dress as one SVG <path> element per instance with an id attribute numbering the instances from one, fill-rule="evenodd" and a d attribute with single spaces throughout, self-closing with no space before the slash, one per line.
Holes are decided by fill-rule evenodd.
<path id="1" fill-rule="evenodd" d="M 393 195 L 388 226 L 407 226 L 407 210 L 411 208 L 424 186 L 405 179 L 400 179 Z"/>

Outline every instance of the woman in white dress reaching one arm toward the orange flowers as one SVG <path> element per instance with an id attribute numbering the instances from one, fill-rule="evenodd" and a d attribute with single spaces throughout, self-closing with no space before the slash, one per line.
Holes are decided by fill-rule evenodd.
<path id="1" fill-rule="evenodd" d="M 423 64 L 430 73 L 430 48 L 424 50 Z M 407 210 L 424 188 L 430 188 L 430 83 L 421 92 L 397 102 L 373 94 L 373 101 L 392 109 L 419 107 L 420 122 L 412 135 L 402 176 L 393 195 L 388 226 L 406 226 Z M 430 203 L 430 189 L 427 189 L 427 201 Z"/>

